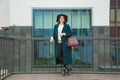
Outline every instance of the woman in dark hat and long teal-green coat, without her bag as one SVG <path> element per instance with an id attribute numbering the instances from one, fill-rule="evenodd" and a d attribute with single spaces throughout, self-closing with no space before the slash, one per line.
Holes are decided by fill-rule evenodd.
<path id="1" fill-rule="evenodd" d="M 70 26 L 66 24 L 68 16 L 59 14 L 56 21 L 58 24 L 54 26 L 50 42 L 55 41 L 56 64 L 63 64 L 62 75 L 70 75 L 71 68 L 69 64 L 72 63 L 72 53 L 71 47 L 67 46 L 67 40 L 72 36 L 72 32 Z"/>

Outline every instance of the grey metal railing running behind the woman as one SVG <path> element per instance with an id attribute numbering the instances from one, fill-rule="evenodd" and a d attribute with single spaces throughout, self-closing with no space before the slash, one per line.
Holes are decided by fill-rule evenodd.
<path id="1" fill-rule="evenodd" d="M 72 72 L 73 73 L 119 73 L 120 67 L 120 55 L 118 56 L 118 64 L 116 65 L 115 56 L 112 54 L 112 41 L 116 40 L 116 38 L 78 38 L 79 46 L 87 46 L 92 44 L 92 64 L 88 64 L 90 61 L 90 57 L 88 56 L 87 48 L 84 47 L 84 54 L 82 54 L 81 48 L 73 47 L 73 49 L 78 50 L 80 54 L 75 57 L 84 57 L 86 63 L 81 63 L 82 58 L 78 59 L 78 64 L 72 64 Z M 120 38 L 118 37 L 119 41 Z M 43 44 L 43 49 L 47 45 L 49 47 L 48 50 L 48 64 L 45 64 L 45 58 L 41 59 L 41 66 L 34 65 L 33 59 L 33 50 L 39 51 L 43 50 L 40 48 L 34 48 L 33 42 L 36 41 L 36 45 L 38 42 Z M 81 43 L 81 41 L 87 41 L 87 45 Z M 85 43 L 85 42 L 84 42 Z M 4 78 L 11 73 L 51 73 L 51 72 L 61 72 L 61 65 L 51 65 L 53 64 L 50 59 L 51 50 L 50 46 L 52 43 L 49 43 L 48 38 L 15 38 L 15 37 L 0 37 L 0 78 Z M 118 45 L 119 46 L 119 45 Z M 73 50 L 74 51 L 74 50 Z M 46 56 L 45 52 L 41 53 L 41 55 Z M 73 52 L 75 55 L 76 53 Z M 38 56 L 38 55 L 36 55 Z M 39 55 L 40 56 L 40 55 Z M 51 60 L 51 61 L 50 61 Z"/>

